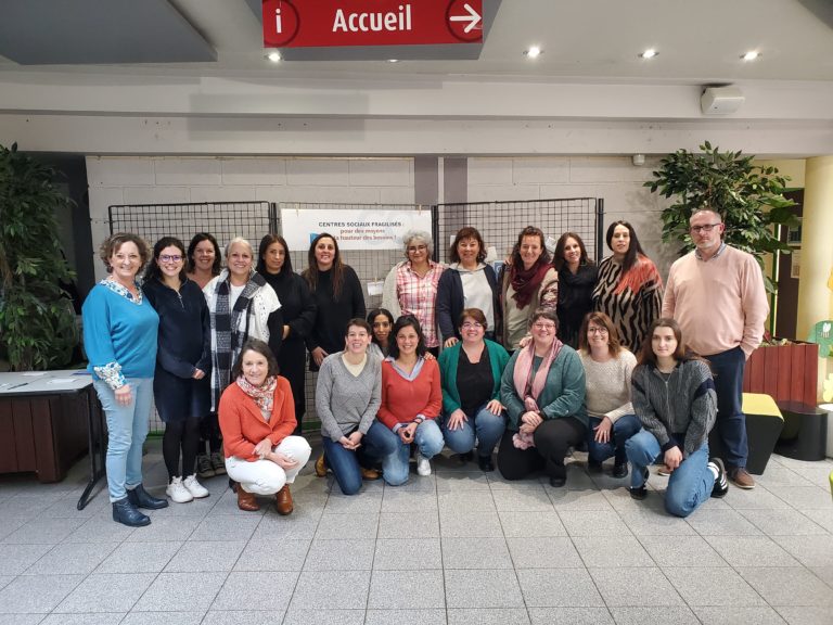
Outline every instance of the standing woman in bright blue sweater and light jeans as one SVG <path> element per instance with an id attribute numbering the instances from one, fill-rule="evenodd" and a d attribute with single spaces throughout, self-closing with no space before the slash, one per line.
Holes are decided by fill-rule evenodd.
<path id="1" fill-rule="evenodd" d="M 159 317 L 136 282 L 148 262 L 144 241 L 118 232 L 102 243 L 99 255 L 108 276 L 84 303 L 84 344 L 107 420 L 113 520 L 138 527 L 151 522 L 138 508 L 154 510 L 168 505 L 142 487 L 142 444 L 151 417 Z"/>

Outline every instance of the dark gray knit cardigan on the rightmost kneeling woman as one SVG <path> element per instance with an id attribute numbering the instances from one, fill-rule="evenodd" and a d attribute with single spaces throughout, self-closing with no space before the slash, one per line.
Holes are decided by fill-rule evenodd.
<path id="1" fill-rule="evenodd" d="M 708 365 L 680 361 L 667 381 L 653 365 L 639 365 L 631 384 L 633 411 L 663 451 L 676 446 L 688 458 L 706 442 L 717 419 L 715 381 Z"/>

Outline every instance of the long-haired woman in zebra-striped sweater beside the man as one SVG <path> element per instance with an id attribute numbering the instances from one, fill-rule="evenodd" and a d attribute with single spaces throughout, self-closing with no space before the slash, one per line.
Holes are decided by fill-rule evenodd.
<path id="1" fill-rule="evenodd" d="M 613 255 L 599 264 L 599 281 L 593 289 L 593 309 L 613 320 L 621 344 L 639 352 L 648 329 L 659 317 L 663 279 L 642 251 L 633 227 L 614 221 L 605 237 Z"/>

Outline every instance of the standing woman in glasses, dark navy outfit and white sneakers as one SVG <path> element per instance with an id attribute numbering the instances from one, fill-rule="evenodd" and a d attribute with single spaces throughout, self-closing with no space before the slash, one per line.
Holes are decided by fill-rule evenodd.
<path id="1" fill-rule="evenodd" d="M 185 248 L 163 237 L 153 246 L 144 293 L 159 315 L 153 395 L 165 422 L 162 456 L 168 470 L 166 495 L 175 503 L 208 497 L 194 475 L 200 421 L 210 408 L 206 373 L 212 370 L 208 306 L 202 290 L 185 277 Z M 180 468 L 181 458 L 181 468 Z"/>

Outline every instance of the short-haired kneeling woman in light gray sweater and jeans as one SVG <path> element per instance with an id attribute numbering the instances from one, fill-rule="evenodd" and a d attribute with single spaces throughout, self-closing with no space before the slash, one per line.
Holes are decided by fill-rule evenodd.
<path id="1" fill-rule="evenodd" d="M 345 495 L 361 488 L 362 477 L 377 480 L 372 467 L 397 450 L 395 441 L 383 436 L 366 436 L 370 431 L 386 430 L 376 421 L 382 404 L 382 360 L 368 354 L 370 323 L 350 319 L 345 349 L 331 354 L 321 363 L 316 385 L 316 411 L 321 419 L 324 454 L 319 463 L 326 462 Z M 384 433 L 383 433 L 384 434 Z M 379 449 L 373 442 L 386 443 Z M 316 464 L 319 474 L 323 467 Z"/>

